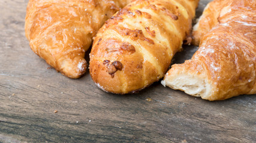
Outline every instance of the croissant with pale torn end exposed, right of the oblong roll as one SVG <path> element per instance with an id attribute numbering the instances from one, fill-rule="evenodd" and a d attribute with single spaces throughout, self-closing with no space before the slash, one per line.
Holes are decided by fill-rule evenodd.
<path id="1" fill-rule="evenodd" d="M 203 26 L 211 21 L 219 24 Z M 227 1 L 218 15 L 203 15 L 200 25 L 198 32 L 207 33 L 200 36 L 198 51 L 191 60 L 174 64 L 162 83 L 210 101 L 256 94 L 256 1 Z"/>

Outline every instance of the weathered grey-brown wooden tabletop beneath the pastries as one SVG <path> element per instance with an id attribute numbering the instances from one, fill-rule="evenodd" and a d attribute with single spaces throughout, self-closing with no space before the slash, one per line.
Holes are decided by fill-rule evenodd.
<path id="1" fill-rule="evenodd" d="M 25 38 L 27 3 L 0 1 L 0 142 L 256 142 L 255 95 L 210 102 L 159 82 L 113 95 L 89 72 L 74 80 L 47 69 Z M 186 47 L 174 63 L 196 49 Z"/>

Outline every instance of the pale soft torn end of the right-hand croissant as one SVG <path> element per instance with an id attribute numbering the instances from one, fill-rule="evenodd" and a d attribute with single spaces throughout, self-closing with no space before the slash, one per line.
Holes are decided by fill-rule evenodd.
<path id="1" fill-rule="evenodd" d="M 207 98 L 210 96 L 212 87 L 207 83 L 207 79 L 200 77 L 200 75 L 194 76 L 188 73 L 180 74 L 167 74 L 162 82 L 172 89 L 179 89 L 184 91 L 186 94 Z"/>

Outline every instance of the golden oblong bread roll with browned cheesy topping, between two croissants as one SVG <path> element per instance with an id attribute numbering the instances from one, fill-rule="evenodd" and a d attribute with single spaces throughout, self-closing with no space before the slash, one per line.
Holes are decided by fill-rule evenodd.
<path id="1" fill-rule="evenodd" d="M 190 35 L 198 0 L 140 0 L 99 30 L 90 54 L 94 82 L 107 92 L 139 91 L 164 76 Z"/>

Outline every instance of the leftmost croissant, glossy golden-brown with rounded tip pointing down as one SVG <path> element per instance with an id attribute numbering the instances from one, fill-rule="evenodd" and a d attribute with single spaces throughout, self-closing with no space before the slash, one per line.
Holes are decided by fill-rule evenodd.
<path id="1" fill-rule="evenodd" d="M 32 51 L 70 78 L 86 71 L 85 52 L 107 18 L 129 0 L 29 0 L 25 33 Z"/>

